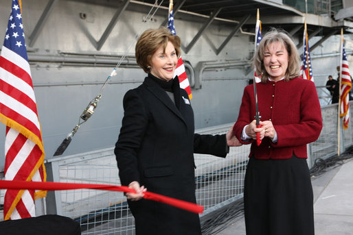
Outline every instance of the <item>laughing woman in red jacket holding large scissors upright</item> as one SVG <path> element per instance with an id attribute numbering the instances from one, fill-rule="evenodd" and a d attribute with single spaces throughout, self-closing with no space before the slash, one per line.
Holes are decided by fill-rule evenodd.
<path id="1" fill-rule="evenodd" d="M 276 29 L 262 38 L 253 64 L 262 75 L 256 84 L 260 128 L 251 84 L 244 89 L 233 129 L 241 143 L 251 144 L 244 182 L 247 235 L 314 234 L 306 145 L 317 140 L 322 128 L 315 84 L 299 78 L 297 48 Z"/>

